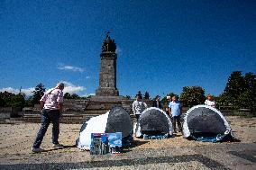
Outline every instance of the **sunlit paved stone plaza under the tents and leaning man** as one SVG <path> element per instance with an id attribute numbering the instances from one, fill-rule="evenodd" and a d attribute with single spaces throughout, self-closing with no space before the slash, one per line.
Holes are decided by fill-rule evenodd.
<path id="1" fill-rule="evenodd" d="M 183 139 L 135 139 L 122 155 L 91 156 L 74 146 L 79 124 L 60 124 L 59 141 L 51 148 L 51 127 L 41 148 L 32 154 L 40 124 L 0 124 L 0 169 L 256 169 L 256 118 L 227 117 L 235 141 L 208 143 Z"/>

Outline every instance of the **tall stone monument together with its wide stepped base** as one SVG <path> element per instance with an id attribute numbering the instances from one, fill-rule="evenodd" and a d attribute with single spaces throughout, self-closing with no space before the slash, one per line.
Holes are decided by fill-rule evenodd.
<path id="1" fill-rule="evenodd" d="M 61 122 L 81 123 L 91 117 L 108 112 L 114 106 L 122 106 L 127 112 L 132 112 L 133 100 L 120 96 L 116 88 L 117 55 L 115 49 L 114 40 L 111 40 L 108 32 L 102 44 L 100 54 L 101 67 L 99 72 L 99 87 L 96 89 L 96 95 L 90 96 L 87 99 L 65 99 L 63 108 L 64 117 L 61 119 Z M 152 102 L 147 101 L 147 104 L 150 106 Z M 22 121 L 41 121 L 40 110 L 34 110 L 34 108 L 30 109 L 30 111 L 25 110 L 23 109 Z"/>

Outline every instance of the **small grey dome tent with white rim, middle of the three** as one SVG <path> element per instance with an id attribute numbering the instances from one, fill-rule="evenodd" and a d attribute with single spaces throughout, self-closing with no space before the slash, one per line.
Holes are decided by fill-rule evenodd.
<path id="1" fill-rule="evenodd" d="M 151 107 L 142 112 L 134 125 L 136 137 L 163 139 L 172 136 L 173 129 L 169 116 L 159 108 Z"/>

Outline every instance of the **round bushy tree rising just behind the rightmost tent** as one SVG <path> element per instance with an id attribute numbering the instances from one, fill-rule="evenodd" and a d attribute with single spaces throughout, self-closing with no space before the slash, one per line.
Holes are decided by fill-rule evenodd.
<path id="1" fill-rule="evenodd" d="M 184 86 L 180 94 L 180 102 L 185 107 L 204 103 L 206 100 L 205 89 L 200 86 Z"/>

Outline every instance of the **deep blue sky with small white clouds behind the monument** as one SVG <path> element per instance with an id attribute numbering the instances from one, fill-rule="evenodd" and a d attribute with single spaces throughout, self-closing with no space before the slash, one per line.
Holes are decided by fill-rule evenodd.
<path id="1" fill-rule="evenodd" d="M 95 94 L 111 31 L 120 94 L 199 85 L 218 95 L 233 71 L 256 73 L 255 10 L 254 0 L 0 0 L 0 91 L 64 81 Z"/>

